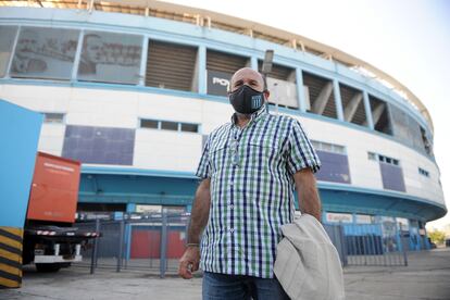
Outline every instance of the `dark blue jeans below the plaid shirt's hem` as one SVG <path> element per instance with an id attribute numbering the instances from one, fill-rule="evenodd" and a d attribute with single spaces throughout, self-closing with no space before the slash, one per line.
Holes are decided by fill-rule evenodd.
<path id="1" fill-rule="evenodd" d="M 203 300 L 284 300 L 289 297 L 276 278 L 204 272 Z"/>

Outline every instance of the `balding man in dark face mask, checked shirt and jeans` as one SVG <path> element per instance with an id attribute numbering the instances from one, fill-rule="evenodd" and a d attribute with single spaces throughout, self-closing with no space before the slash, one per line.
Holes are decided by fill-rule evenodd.
<path id="1" fill-rule="evenodd" d="M 321 218 L 318 158 L 298 121 L 267 113 L 268 96 L 261 74 L 237 71 L 229 92 L 236 113 L 203 149 L 179 263 L 183 278 L 201 264 L 203 299 L 287 299 L 273 265 L 280 226 L 293 221 L 295 188 L 301 212 Z"/>

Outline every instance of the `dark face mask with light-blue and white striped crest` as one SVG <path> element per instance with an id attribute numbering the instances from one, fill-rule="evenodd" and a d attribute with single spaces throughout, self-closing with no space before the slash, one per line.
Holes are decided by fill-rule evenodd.
<path id="1" fill-rule="evenodd" d="M 264 93 L 247 85 L 230 92 L 228 97 L 235 111 L 241 114 L 252 114 L 264 105 Z"/>

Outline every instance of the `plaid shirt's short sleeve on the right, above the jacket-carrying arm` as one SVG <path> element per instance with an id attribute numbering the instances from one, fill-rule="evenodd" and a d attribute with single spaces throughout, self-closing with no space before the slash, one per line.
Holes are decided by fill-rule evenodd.
<path id="1" fill-rule="evenodd" d="M 295 120 L 290 128 L 287 153 L 287 168 L 296 174 L 310 167 L 313 173 L 321 168 L 321 161 L 301 124 Z"/>

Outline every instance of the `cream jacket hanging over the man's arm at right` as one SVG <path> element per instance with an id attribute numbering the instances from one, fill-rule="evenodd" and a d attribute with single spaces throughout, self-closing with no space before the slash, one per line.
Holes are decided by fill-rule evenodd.
<path id="1" fill-rule="evenodd" d="M 291 299 L 345 299 L 342 267 L 322 224 L 302 214 L 282 226 L 274 272 Z"/>

